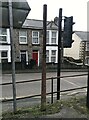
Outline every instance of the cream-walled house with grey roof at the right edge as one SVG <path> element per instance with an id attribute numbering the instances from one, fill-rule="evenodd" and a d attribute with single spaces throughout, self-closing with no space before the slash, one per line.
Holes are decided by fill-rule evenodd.
<path id="1" fill-rule="evenodd" d="M 82 60 L 89 65 L 89 32 L 75 31 L 71 48 L 64 48 L 64 56 Z"/>

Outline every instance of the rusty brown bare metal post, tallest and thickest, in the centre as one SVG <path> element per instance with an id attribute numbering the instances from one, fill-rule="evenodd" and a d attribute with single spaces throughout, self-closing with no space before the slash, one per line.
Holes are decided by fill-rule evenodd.
<path id="1" fill-rule="evenodd" d="M 43 58 L 42 58 L 41 110 L 46 110 L 46 21 L 47 21 L 47 5 L 44 5 L 43 6 Z"/>

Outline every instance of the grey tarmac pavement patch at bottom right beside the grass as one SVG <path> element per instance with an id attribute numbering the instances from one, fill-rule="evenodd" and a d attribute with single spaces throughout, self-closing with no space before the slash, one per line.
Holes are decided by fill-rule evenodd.
<path id="1" fill-rule="evenodd" d="M 37 100 L 36 100 L 36 102 L 37 102 Z M 28 103 L 29 103 L 29 100 L 28 100 Z M 37 103 L 35 103 L 35 104 L 37 104 Z M 30 119 L 31 118 L 27 118 L 27 120 L 30 120 Z M 60 112 L 58 112 L 58 113 L 38 116 L 32 120 L 47 120 L 47 119 L 50 119 L 50 120 L 66 120 L 66 119 L 67 120 L 89 120 L 89 115 L 83 114 L 83 113 L 81 114 L 79 112 L 79 110 L 76 110 L 73 107 L 63 106 L 61 108 Z"/>

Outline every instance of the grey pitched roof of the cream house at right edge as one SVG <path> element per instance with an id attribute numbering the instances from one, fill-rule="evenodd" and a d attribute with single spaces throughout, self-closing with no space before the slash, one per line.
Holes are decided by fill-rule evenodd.
<path id="1" fill-rule="evenodd" d="M 81 38 L 82 41 L 89 41 L 89 32 L 75 31 L 75 34 Z"/>

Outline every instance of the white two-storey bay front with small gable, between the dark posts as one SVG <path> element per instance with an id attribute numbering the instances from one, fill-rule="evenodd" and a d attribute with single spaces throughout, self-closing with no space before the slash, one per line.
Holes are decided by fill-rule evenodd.
<path id="1" fill-rule="evenodd" d="M 58 54 L 58 27 L 53 21 L 47 25 L 46 63 L 57 63 Z"/>

